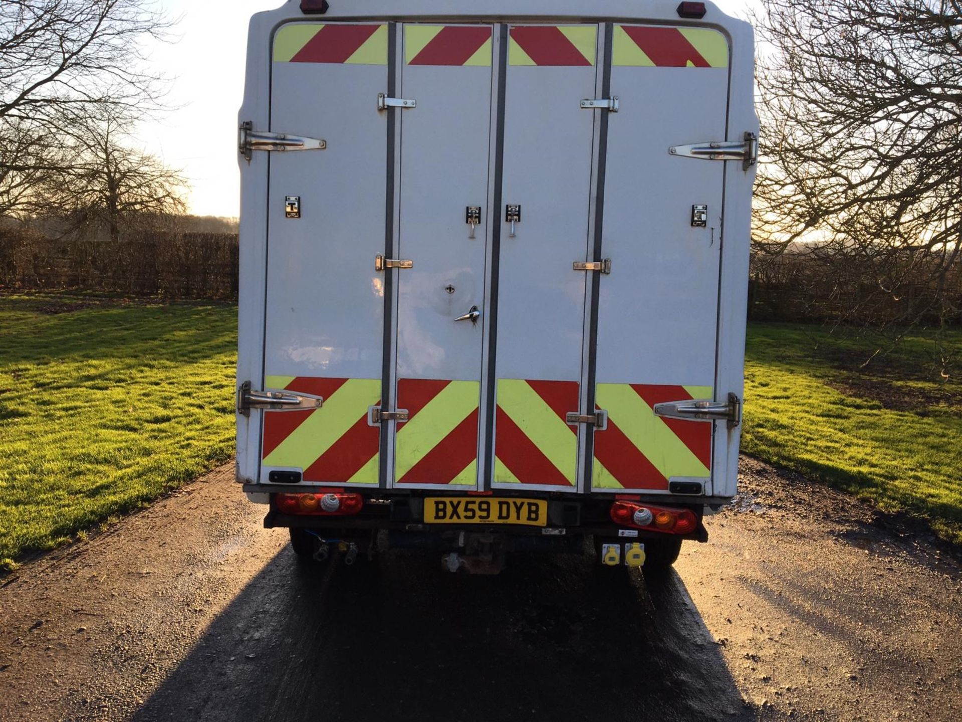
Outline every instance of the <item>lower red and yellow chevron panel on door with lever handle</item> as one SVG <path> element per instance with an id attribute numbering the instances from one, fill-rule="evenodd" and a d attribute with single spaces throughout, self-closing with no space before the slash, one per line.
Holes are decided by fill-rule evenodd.
<path id="1" fill-rule="evenodd" d="M 397 380 L 397 407 L 408 421 L 397 423 L 396 484 L 477 483 L 480 393 L 477 381 Z"/>

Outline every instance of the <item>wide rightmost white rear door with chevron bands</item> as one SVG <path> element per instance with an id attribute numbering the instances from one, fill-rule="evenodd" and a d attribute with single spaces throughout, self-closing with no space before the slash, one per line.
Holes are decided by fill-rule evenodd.
<path id="1" fill-rule="evenodd" d="M 669 147 L 725 139 L 728 44 L 701 28 L 614 26 L 597 278 L 594 491 L 710 493 L 714 424 L 655 416 L 662 401 L 713 400 L 724 164 Z M 707 206 L 704 225 L 693 207 Z M 700 209 L 696 209 L 700 211 Z M 723 400 L 723 399 L 722 399 Z"/>

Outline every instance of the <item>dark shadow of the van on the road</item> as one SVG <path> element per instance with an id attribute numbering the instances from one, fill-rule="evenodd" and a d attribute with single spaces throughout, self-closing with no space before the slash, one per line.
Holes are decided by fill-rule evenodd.
<path id="1" fill-rule="evenodd" d="M 583 557 L 277 554 L 135 715 L 204 720 L 752 720 L 682 580 Z M 366 568 L 367 567 L 367 568 Z"/>

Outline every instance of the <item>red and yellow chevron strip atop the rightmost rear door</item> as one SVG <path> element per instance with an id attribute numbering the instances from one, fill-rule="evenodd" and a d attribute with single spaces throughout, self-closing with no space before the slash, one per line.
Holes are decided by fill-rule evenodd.
<path id="1" fill-rule="evenodd" d="M 616 25 L 613 65 L 727 67 L 728 41 L 707 28 Z"/>

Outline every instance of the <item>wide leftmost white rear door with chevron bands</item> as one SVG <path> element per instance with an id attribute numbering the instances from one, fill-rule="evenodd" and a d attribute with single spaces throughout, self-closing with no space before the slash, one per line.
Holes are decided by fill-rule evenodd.
<path id="1" fill-rule="evenodd" d="M 271 153 L 265 385 L 322 397 L 316 411 L 265 413 L 262 480 L 379 482 L 384 354 L 388 26 L 298 22 L 275 33 L 270 130 L 327 141 Z M 345 172 L 345 168 L 349 169 Z M 288 218 L 287 198 L 300 218 Z M 283 480 L 285 477 L 278 477 Z"/>

